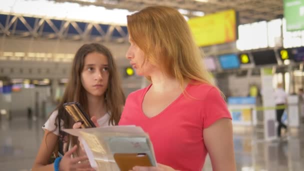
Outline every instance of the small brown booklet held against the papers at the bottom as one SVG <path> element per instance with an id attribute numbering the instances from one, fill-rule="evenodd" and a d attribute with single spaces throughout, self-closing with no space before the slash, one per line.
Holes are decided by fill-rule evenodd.
<path id="1" fill-rule="evenodd" d="M 134 166 L 152 166 L 146 153 L 114 153 L 120 171 L 132 170 Z"/>

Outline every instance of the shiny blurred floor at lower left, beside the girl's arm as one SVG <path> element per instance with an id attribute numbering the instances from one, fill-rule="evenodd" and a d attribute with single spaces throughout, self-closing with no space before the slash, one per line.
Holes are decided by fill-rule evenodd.
<path id="1" fill-rule="evenodd" d="M 42 120 L 0 120 L 0 170 L 29 170 L 39 148 Z"/>

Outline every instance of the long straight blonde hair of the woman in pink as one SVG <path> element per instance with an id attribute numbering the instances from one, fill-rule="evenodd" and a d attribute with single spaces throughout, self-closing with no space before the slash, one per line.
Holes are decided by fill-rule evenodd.
<path id="1" fill-rule="evenodd" d="M 145 61 L 176 78 L 181 87 L 186 80 L 214 85 L 188 24 L 176 9 L 146 7 L 127 16 L 127 29 L 134 43 L 144 52 Z"/>

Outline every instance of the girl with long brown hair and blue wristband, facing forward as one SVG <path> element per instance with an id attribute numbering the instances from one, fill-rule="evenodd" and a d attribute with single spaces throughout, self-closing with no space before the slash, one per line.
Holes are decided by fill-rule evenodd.
<path id="1" fill-rule="evenodd" d="M 77 148 L 77 137 L 62 131 L 74 124 L 63 108 L 63 103 L 73 101 L 79 102 L 98 125 L 118 124 L 125 98 L 113 56 L 105 46 L 90 43 L 77 50 L 63 98 L 42 127 L 44 136 L 33 171 L 93 170 Z M 80 127 L 81 123 L 77 124 Z M 49 161 L 52 153 L 56 156 L 54 162 Z"/>

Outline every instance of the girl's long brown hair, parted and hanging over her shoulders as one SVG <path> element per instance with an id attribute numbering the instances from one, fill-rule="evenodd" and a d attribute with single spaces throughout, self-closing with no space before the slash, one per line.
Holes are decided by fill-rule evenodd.
<path id="1" fill-rule="evenodd" d="M 121 87 L 118 69 L 116 67 L 114 58 L 107 47 L 98 43 L 90 43 L 83 44 L 77 50 L 72 62 L 69 79 L 65 87 L 62 100 L 59 102 L 55 109 L 58 110 L 55 125 L 59 128 L 59 130 L 60 126 L 57 123 L 60 122 L 60 119 L 63 120 L 64 128 L 72 128 L 72 125 L 74 124 L 74 121 L 63 108 L 63 103 L 77 101 L 81 104 L 86 113 L 89 114 L 86 90 L 81 84 L 81 72 L 84 66 L 84 58 L 88 53 L 91 52 L 98 52 L 107 57 L 109 77 L 107 89 L 104 92 L 103 98 L 105 99 L 104 101 L 106 104 L 106 109 L 109 111 L 110 114 L 108 123 L 117 125 L 119 122 L 122 107 L 125 102 L 125 96 Z M 70 140 L 71 145 L 78 144 L 78 140 L 76 137 L 72 137 L 69 135 L 67 141 L 68 144 Z"/>

